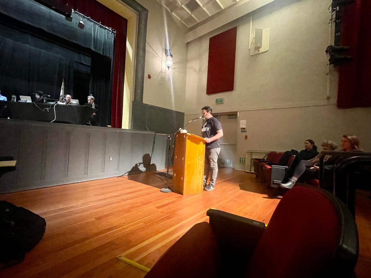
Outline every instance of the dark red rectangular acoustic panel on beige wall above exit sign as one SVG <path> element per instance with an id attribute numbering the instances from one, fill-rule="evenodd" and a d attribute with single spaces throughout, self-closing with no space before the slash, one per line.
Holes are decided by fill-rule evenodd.
<path id="1" fill-rule="evenodd" d="M 236 59 L 237 27 L 217 34 L 209 40 L 206 94 L 232 91 Z"/>

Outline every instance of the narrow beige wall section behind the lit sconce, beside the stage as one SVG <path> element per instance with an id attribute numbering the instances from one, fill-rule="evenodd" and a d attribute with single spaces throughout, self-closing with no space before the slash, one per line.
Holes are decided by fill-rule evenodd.
<path id="1" fill-rule="evenodd" d="M 156 0 L 137 2 L 148 9 L 143 102 L 184 112 L 187 68 L 187 44 L 184 43 L 184 36 L 188 29 Z M 170 71 L 165 66 L 165 20 L 169 47 L 174 56 Z M 148 74 L 152 76 L 151 79 L 148 79 Z"/>

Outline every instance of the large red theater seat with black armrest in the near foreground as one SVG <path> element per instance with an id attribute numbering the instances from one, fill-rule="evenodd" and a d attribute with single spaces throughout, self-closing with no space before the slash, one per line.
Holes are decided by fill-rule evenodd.
<path id="1" fill-rule="evenodd" d="M 349 209 L 311 185 L 295 185 L 264 223 L 209 209 L 146 278 L 351 277 L 358 232 Z"/>

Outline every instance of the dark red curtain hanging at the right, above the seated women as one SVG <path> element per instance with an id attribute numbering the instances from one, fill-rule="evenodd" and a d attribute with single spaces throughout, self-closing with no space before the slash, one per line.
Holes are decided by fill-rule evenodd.
<path id="1" fill-rule="evenodd" d="M 340 44 L 350 46 L 353 60 L 339 66 L 340 108 L 371 106 L 370 18 L 370 0 L 355 0 L 343 10 Z"/>

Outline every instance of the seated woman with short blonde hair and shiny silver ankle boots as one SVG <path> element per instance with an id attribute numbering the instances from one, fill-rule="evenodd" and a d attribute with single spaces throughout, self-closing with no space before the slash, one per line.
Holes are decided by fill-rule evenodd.
<path id="1" fill-rule="evenodd" d="M 322 150 L 335 150 L 338 145 L 336 145 L 335 142 L 332 142 L 330 140 L 324 140 L 321 144 Z M 292 188 L 292 186 L 295 184 L 295 182 L 298 181 L 300 176 L 304 172 L 310 172 L 315 173 L 317 170 L 313 166 L 319 163 L 319 158 L 321 157 L 321 153 L 315 156 L 315 158 L 309 159 L 309 160 L 301 160 L 299 164 L 295 167 L 294 173 L 291 178 L 289 178 L 289 181 L 286 183 L 281 183 L 280 186 L 283 188 Z M 324 160 L 327 161 L 331 156 L 326 155 L 324 157 Z"/>

